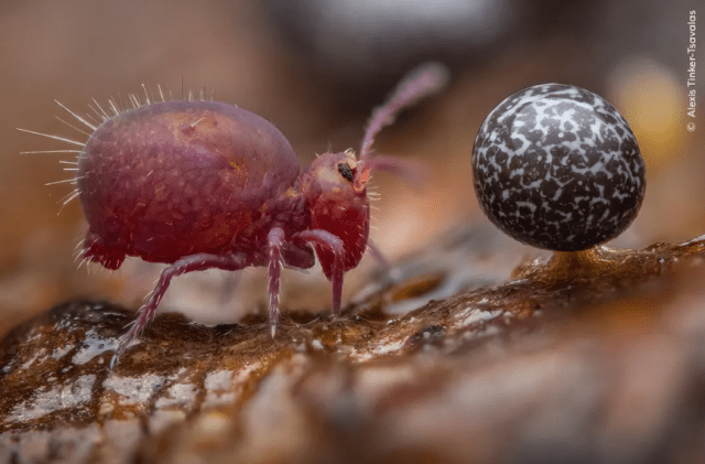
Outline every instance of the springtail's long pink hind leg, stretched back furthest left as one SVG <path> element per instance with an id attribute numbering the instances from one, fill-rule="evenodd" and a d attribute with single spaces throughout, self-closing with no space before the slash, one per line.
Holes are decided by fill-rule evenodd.
<path id="1" fill-rule="evenodd" d="M 159 306 L 160 301 L 162 301 L 162 296 L 164 296 L 164 293 L 166 292 L 166 289 L 169 289 L 174 277 L 186 272 L 205 271 L 207 269 L 236 271 L 242 269 L 246 265 L 246 260 L 241 256 L 199 253 L 184 257 L 164 269 L 159 279 L 159 283 L 152 291 L 147 304 L 140 309 L 139 315 L 132 323 L 130 331 L 120 337 L 120 343 L 112 355 L 112 359 L 110 360 L 110 368 L 115 367 L 122 353 L 124 353 L 134 339 L 139 338 L 142 331 L 144 331 L 144 327 L 147 327 L 147 325 L 154 319 L 156 306 Z"/>

